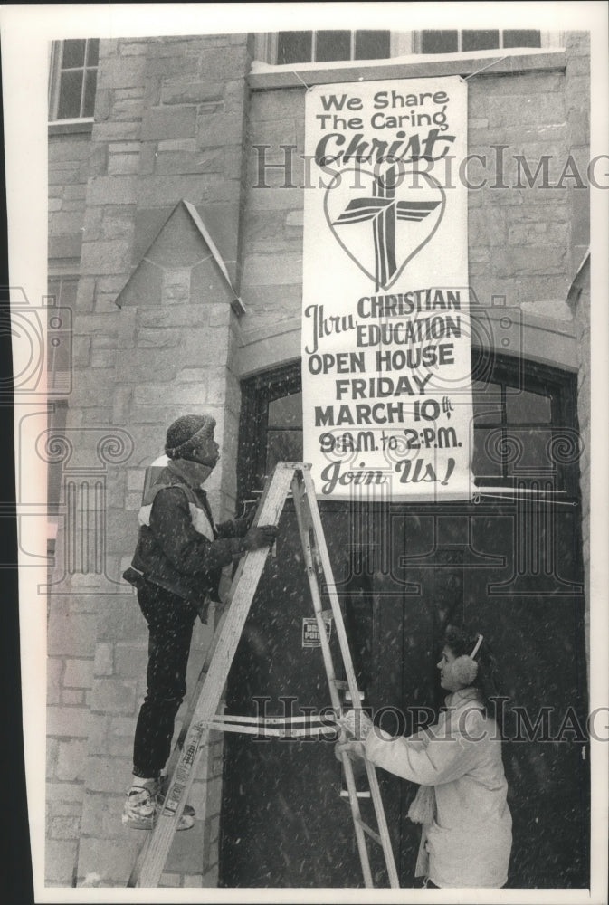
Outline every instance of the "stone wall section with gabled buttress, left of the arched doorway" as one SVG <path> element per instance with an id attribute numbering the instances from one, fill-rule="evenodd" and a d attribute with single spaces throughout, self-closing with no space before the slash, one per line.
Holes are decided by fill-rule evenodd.
<path id="1" fill-rule="evenodd" d="M 245 35 L 101 41 L 92 134 L 52 139 L 50 254 L 70 257 L 80 273 L 65 431 L 77 452 L 64 478 L 72 467 L 70 486 L 88 512 L 71 524 L 66 484 L 49 596 L 54 886 L 125 886 L 144 841 L 120 822 L 147 662 L 146 624 L 120 575 L 137 538 L 146 466 L 178 414 L 215 415 L 224 455 L 210 498 L 217 519 L 233 514 L 240 328 L 230 281 L 239 279 L 248 69 Z M 80 208 L 66 208 L 75 198 Z M 211 637 L 197 624 L 191 689 Z M 176 835 L 163 885 L 216 885 L 221 773 L 214 738 L 191 795 L 199 819 Z"/>

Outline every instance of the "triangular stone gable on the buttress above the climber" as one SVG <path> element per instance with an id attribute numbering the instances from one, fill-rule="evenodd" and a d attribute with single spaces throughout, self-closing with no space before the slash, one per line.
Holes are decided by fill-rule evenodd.
<path id="1" fill-rule="evenodd" d="M 236 313 L 243 304 L 224 261 L 195 208 L 180 201 L 159 229 L 116 300 L 155 307 L 167 301 L 227 302 Z"/>

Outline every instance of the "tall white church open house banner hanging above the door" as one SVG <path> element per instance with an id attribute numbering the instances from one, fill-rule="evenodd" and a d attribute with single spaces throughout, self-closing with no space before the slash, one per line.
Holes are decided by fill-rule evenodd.
<path id="1" fill-rule="evenodd" d="M 306 97 L 304 461 L 321 498 L 467 499 L 466 83 Z"/>

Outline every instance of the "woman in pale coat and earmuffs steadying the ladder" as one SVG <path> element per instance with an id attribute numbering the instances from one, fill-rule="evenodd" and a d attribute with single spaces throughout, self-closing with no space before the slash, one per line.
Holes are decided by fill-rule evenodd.
<path id="1" fill-rule="evenodd" d="M 423 886 L 499 889 L 508 881 L 512 821 L 493 718 L 494 658 L 480 633 L 449 626 L 437 667 L 450 693 L 431 728 L 392 738 L 350 710 L 339 723 L 351 739 L 338 741 L 337 757 L 366 757 L 420 785 L 408 816 L 422 824 L 415 876 Z"/>

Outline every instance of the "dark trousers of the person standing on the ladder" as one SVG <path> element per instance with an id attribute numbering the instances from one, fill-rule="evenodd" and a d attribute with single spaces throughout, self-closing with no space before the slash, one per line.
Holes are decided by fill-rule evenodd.
<path id="1" fill-rule="evenodd" d="M 186 665 L 195 606 L 146 582 L 138 603 L 148 624 L 147 693 L 133 743 L 133 772 L 157 777 L 169 757 L 176 713 L 186 694 Z"/>

